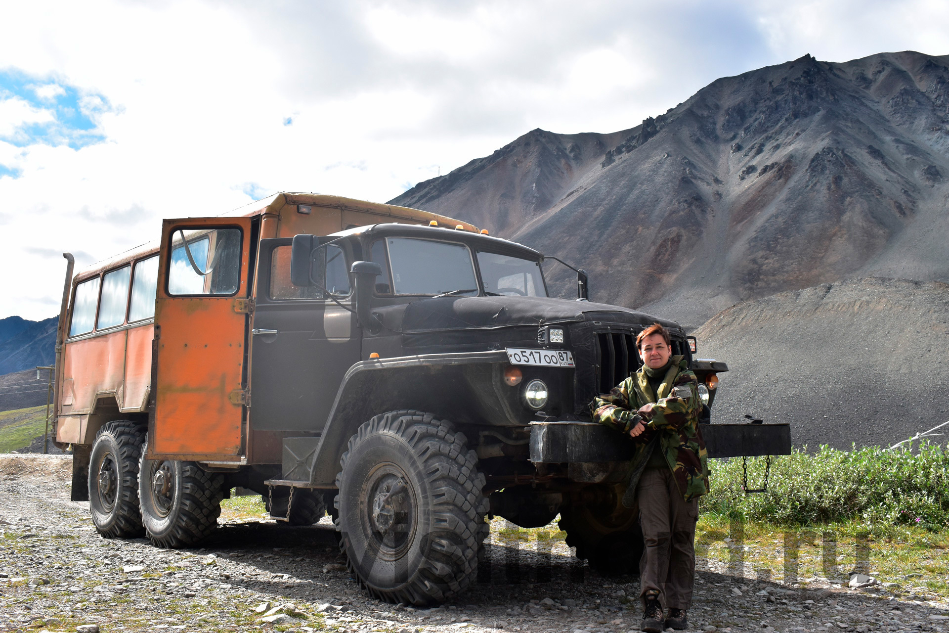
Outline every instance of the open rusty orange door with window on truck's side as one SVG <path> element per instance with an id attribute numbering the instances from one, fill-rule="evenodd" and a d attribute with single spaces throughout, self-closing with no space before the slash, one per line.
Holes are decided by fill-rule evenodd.
<path id="1" fill-rule="evenodd" d="M 251 219 L 164 220 L 160 253 L 149 457 L 238 459 Z"/>

